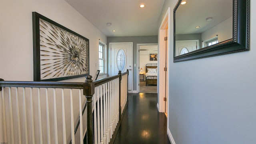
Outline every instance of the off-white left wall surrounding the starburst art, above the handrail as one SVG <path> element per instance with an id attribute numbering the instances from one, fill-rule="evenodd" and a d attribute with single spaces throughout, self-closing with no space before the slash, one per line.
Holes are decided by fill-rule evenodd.
<path id="1" fill-rule="evenodd" d="M 0 1 L 0 78 L 33 81 L 32 12 L 38 12 L 90 40 L 90 74 L 98 70 L 99 39 L 106 36 L 64 0 Z M 84 82 L 85 78 L 73 80 Z"/>

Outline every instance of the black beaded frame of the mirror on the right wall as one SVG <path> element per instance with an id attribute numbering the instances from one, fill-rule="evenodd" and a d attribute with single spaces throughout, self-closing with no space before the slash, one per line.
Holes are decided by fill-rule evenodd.
<path id="1" fill-rule="evenodd" d="M 174 8 L 174 62 L 249 50 L 250 0 L 233 0 L 233 37 L 231 39 L 189 52 L 187 54 L 175 56 L 175 12 L 181 2 L 182 0 L 179 0 Z"/>

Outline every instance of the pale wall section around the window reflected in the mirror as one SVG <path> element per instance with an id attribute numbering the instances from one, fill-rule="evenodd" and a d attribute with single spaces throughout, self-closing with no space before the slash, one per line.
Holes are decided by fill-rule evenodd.
<path id="1" fill-rule="evenodd" d="M 202 32 L 202 41 L 209 40 L 211 38 L 216 37 L 218 35 L 218 42 L 223 42 L 225 40 L 228 40 L 232 38 L 232 32 L 233 32 L 233 17 L 224 20 L 220 24 L 210 28 L 209 30 L 206 30 L 205 32 Z"/>

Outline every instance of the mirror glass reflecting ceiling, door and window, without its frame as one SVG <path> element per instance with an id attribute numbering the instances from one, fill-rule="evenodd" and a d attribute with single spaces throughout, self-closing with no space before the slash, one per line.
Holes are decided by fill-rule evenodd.
<path id="1" fill-rule="evenodd" d="M 174 56 L 232 39 L 232 14 L 233 0 L 186 0 L 180 4 L 175 12 Z"/>

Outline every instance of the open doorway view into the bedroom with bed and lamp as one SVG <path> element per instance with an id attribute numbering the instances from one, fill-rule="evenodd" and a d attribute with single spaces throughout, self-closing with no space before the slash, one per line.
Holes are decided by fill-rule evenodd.
<path id="1" fill-rule="evenodd" d="M 138 92 L 157 93 L 158 44 L 137 44 Z"/>

